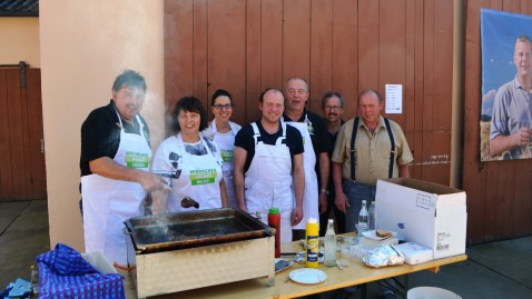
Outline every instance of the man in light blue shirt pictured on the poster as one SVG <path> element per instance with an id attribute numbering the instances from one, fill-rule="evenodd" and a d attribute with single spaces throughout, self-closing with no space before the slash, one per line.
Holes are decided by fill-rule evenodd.
<path id="1" fill-rule="evenodd" d="M 490 153 L 503 159 L 532 158 L 532 42 L 520 36 L 513 53 L 515 78 L 499 88 L 490 129 Z"/>

